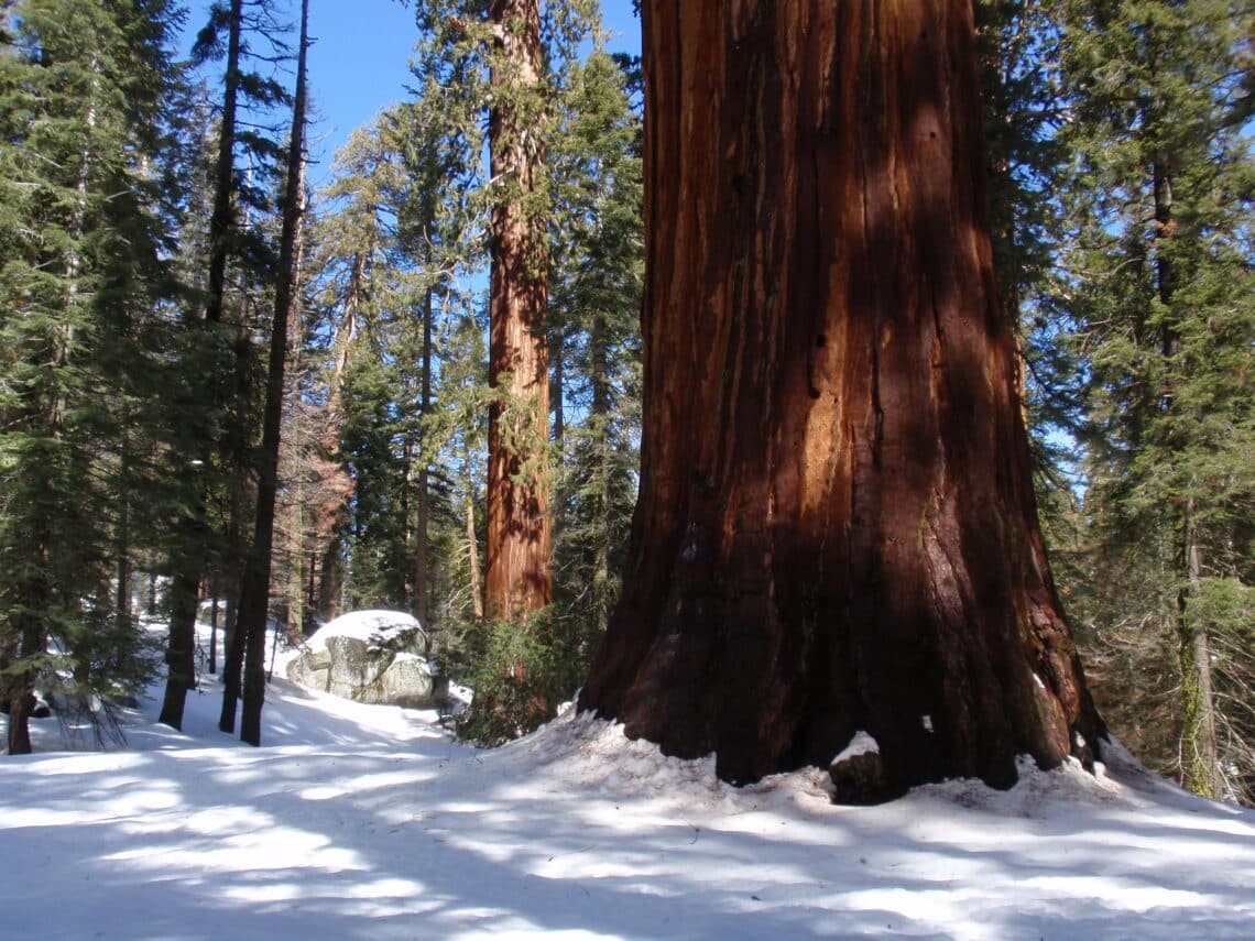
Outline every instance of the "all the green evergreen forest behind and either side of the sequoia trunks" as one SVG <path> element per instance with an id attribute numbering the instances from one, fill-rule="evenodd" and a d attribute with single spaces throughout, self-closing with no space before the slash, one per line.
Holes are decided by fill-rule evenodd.
<path id="1" fill-rule="evenodd" d="M 351 137 L 316 194 L 285 366 L 271 593 L 290 631 L 351 607 L 418 614 L 477 691 L 462 733 L 481 742 L 580 686 L 635 502 L 641 70 L 604 51 L 595 6 L 542 4 L 528 84 L 492 78 L 517 23 L 484 0 L 415 5 L 413 97 Z M 183 625 L 179 703 L 198 593 L 238 601 L 286 156 L 276 9 L 212 3 L 192 65 L 228 64 L 195 89 L 168 0 L 0 4 L 11 752 L 29 748 L 33 688 L 87 708 L 151 679 L 139 573 Z M 976 9 L 1001 306 L 1059 593 L 1116 733 L 1187 787 L 1255 803 L 1255 11 Z M 543 153 L 533 184 L 493 176 L 494 109 Z M 520 624 L 486 617 L 483 576 L 489 413 L 527 413 L 488 381 L 493 210 L 510 201 L 543 235 L 528 271 L 547 277 L 553 429 L 503 437 L 552 492 L 553 603 Z"/>

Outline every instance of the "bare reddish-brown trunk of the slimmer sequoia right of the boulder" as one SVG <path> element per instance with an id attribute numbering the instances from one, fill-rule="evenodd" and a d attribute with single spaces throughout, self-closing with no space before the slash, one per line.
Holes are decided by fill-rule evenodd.
<path id="1" fill-rule="evenodd" d="M 552 598 L 548 518 L 548 275 L 545 220 L 535 196 L 543 154 L 540 108 L 540 5 L 492 0 L 498 49 L 492 83 L 492 213 L 488 383 L 497 391 L 488 432 L 489 617 L 515 621 Z"/>

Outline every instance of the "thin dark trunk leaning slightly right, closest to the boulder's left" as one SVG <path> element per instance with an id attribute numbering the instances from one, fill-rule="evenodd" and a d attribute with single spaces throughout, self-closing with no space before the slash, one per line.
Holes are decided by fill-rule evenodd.
<path id="1" fill-rule="evenodd" d="M 284 193 L 284 223 L 279 247 L 279 280 L 275 285 L 275 316 L 270 330 L 270 364 L 266 374 L 266 404 L 262 415 L 257 513 L 252 551 L 240 592 L 240 625 L 245 636 L 243 711 L 240 738 L 261 744 L 261 709 L 266 696 L 266 610 L 270 600 L 270 568 L 275 538 L 275 501 L 279 492 L 279 435 L 284 417 L 284 366 L 287 361 L 287 324 L 296 306 L 296 250 L 305 191 L 305 60 L 309 31 L 309 0 L 301 0 L 300 45 L 296 54 L 296 97 L 292 104 L 292 133 L 287 144 L 287 182 Z"/>

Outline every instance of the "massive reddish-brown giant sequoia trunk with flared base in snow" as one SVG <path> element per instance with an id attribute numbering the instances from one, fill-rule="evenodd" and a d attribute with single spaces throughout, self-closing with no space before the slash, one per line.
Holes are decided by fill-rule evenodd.
<path id="1" fill-rule="evenodd" d="M 1037 523 L 968 0 L 644 4 L 641 492 L 581 706 L 885 793 L 1103 733 Z M 857 795 L 855 795 L 857 797 Z"/>

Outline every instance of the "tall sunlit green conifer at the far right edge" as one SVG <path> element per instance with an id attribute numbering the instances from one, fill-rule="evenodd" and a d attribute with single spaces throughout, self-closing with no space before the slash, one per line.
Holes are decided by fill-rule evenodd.
<path id="1" fill-rule="evenodd" d="M 1255 13 L 1224 0 L 1065 11 L 1065 289 L 1089 365 L 1084 614 L 1108 651 L 1099 689 L 1155 764 L 1251 800 Z"/>

